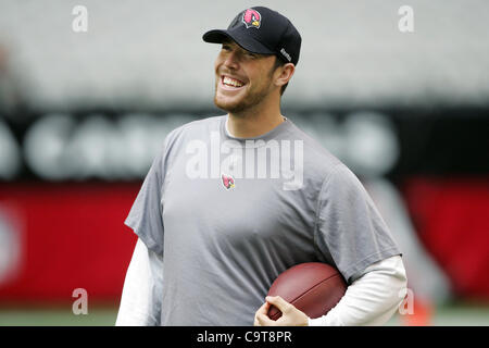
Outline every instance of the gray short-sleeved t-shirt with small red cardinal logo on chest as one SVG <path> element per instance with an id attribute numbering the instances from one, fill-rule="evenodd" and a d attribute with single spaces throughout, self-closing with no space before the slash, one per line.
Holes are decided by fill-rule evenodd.
<path id="1" fill-rule="evenodd" d="M 351 283 L 400 254 L 356 176 L 290 120 L 249 139 L 226 121 L 174 129 L 125 222 L 163 253 L 161 325 L 252 325 L 294 264 L 326 262 Z"/>

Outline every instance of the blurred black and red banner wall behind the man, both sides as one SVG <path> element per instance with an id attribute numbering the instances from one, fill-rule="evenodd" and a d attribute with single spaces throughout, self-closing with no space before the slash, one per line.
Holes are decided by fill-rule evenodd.
<path id="1" fill-rule="evenodd" d="M 489 110 L 284 113 L 363 181 L 408 260 L 419 258 L 410 249 L 418 238 L 457 298 L 489 299 Z M 142 178 L 170 130 L 213 114 L 2 119 L 0 302 L 71 300 L 75 288 L 115 301 L 136 240 L 123 222 Z M 399 226 L 403 208 L 392 211 L 386 187 L 411 223 Z M 426 266 L 406 266 L 424 291 L 430 276 L 416 275 Z"/>

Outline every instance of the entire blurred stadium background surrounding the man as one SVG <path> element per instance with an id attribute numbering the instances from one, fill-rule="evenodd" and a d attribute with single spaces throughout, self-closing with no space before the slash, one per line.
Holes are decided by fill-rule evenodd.
<path id="1" fill-rule="evenodd" d="M 123 221 L 155 151 L 222 113 L 201 36 L 256 4 L 0 0 L 0 325 L 114 324 Z M 260 4 L 303 37 L 284 114 L 356 173 L 404 250 L 414 302 L 389 324 L 489 325 L 489 3 Z"/>

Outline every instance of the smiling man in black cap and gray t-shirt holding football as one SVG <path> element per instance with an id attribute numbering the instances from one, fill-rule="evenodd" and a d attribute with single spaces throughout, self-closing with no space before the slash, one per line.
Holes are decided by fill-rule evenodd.
<path id="1" fill-rule="evenodd" d="M 117 325 L 381 324 L 405 287 L 400 251 L 358 178 L 280 113 L 301 37 L 267 8 L 239 13 L 215 61 L 227 111 L 174 129 L 126 224 L 139 236 Z M 264 297 L 290 266 L 335 265 L 349 284 L 310 319 Z M 271 304 L 284 315 L 266 316 Z"/>

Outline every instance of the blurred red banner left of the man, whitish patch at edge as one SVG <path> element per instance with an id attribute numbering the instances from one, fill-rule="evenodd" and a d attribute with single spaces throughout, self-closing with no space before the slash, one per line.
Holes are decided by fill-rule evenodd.
<path id="1" fill-rule="evenodd" d="M 123 225 L 138 185 L 13 184 L 0 189 L 1 302 L 120 295 L 136 236 Z"/>

